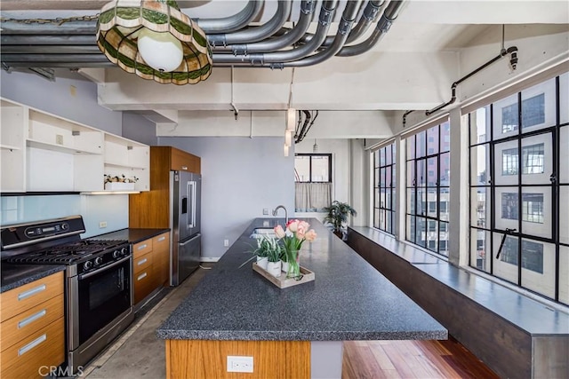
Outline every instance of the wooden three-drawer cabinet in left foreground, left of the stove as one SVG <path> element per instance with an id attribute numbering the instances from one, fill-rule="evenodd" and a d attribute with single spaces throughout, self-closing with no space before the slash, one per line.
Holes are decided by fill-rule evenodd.
<path id="1" fill-rule="evenodd" d="M 41 377 L 65 361 L 63 296 L 63 272 L 0 295 L 0 377 Z"/>

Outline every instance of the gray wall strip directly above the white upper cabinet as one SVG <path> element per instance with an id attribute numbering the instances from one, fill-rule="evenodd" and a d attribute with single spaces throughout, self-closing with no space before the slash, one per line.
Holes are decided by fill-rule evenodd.
<path id="1" fill-rule="evenodd" d="M 123 113 L 100 107 L 97 84 L 83 76 L 69 70 L 58 71 L 61 76 L 50 82 L 31 72 L 1 71 L 3 98 L 121 135 Z"/>

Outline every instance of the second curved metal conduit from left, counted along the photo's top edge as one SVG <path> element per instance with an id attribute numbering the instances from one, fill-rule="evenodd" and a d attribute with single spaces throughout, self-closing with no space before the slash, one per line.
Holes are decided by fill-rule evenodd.
<path id="1" fill-rule="evenodd" d="M 264 40 L 272 36 L 279 30 L 288 17 L 292 9 L 292 0 L 278 0 L 275 15 L 268 20 L 266 24 L 256 28 L 248 28 L 239 30 L 235 33 L 224 33 L 220 35 L 208 35 L 207 39 L 210 44 L 215 45 L 228 45 L 236 43 L 254 43 Z"/>

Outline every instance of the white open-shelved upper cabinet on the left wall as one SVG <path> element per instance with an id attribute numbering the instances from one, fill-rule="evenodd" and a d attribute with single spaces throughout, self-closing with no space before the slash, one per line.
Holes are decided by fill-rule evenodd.
<path id="1" fill-rule="evenodd" d="M 1 100 L 2 193 L 99 192 L 105 176 L 149 188 L 149 147 Z"/>

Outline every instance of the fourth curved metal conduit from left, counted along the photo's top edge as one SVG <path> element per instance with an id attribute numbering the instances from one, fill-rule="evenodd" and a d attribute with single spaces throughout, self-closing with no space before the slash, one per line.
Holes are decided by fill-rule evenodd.
<path id="1" fill-rule="evenodd" d="M 320 16 L 318 18 L 317 33 L 315 34 L 315 38 L 312 38 L 309 43 L 288 51 L 273 51 L 243 56 L 214 53 L 213 62 L 216 66 L 268 67 L 266 66 L 267 63 L 280 63 L 284 61 L 302 59 L 316 51 L 324 42 L 328 29 L 332 23 L 337 4 L 338 0 L 325 0 L 322 4 L 322 7 L 320 8 Z"/>

